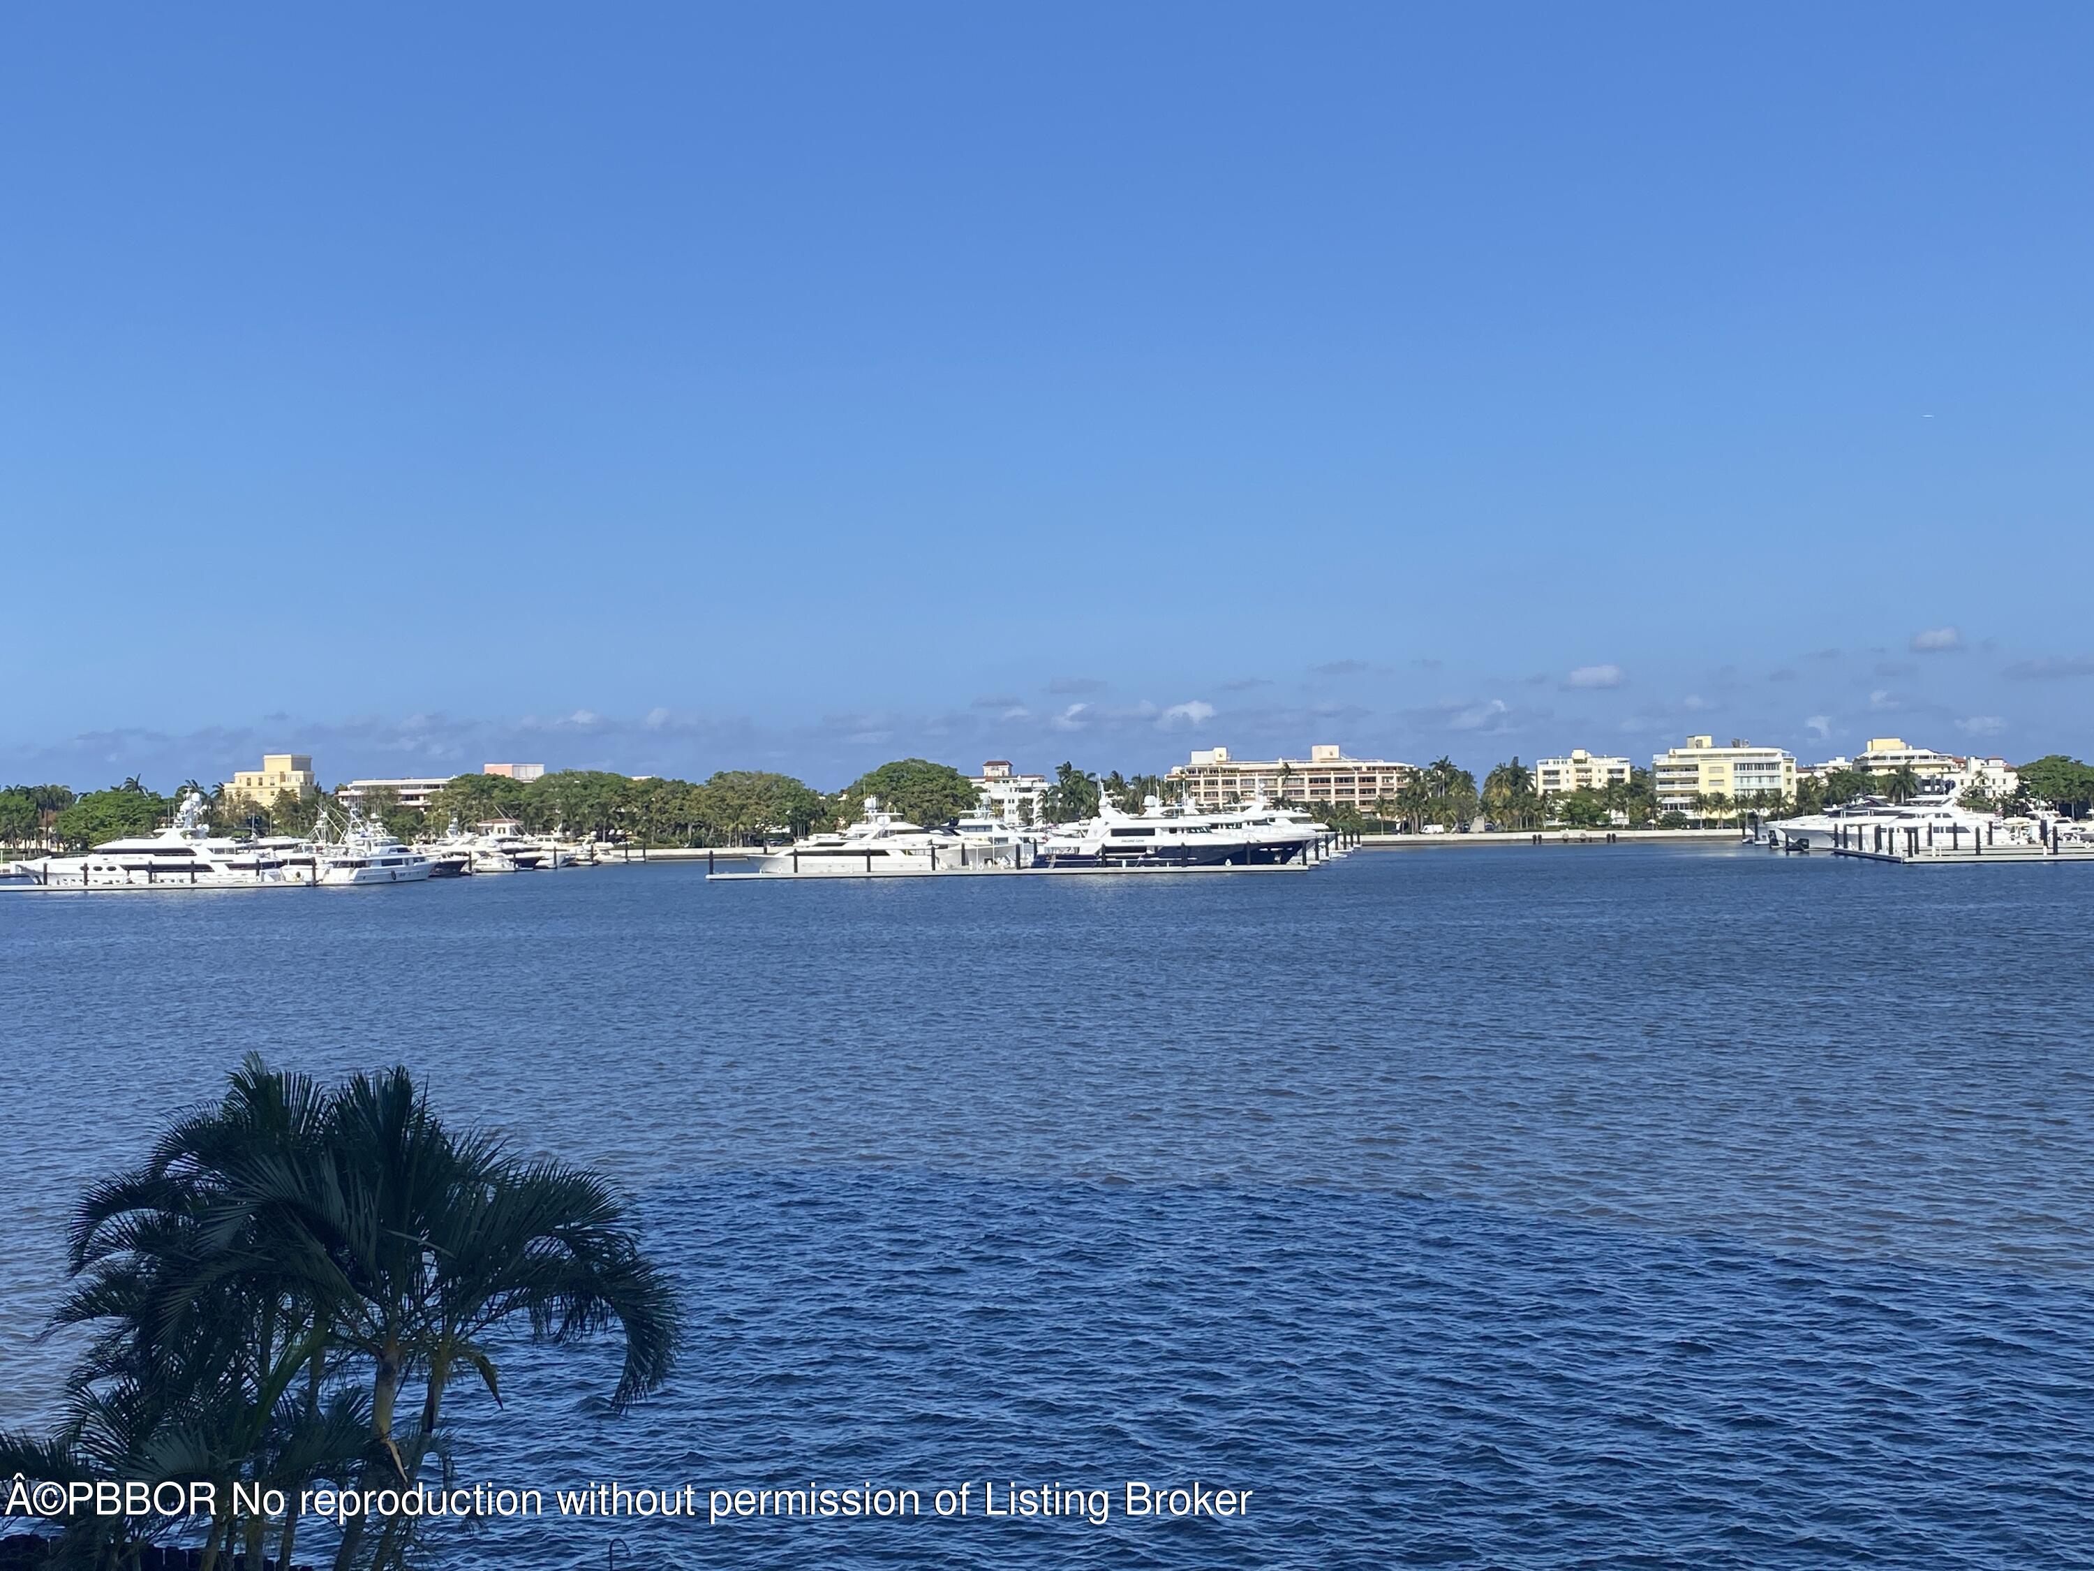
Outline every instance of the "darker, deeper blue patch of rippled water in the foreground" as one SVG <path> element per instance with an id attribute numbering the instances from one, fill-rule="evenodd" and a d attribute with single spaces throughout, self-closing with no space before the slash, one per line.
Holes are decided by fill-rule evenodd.
<path id="1" fill-rule="evenodd" d="M 1104 1487 L 1047 1523 L 540 1523 L 456 1550 L 676 1565 L 2035 1567 L 2094 1546 L 2081 1284 L 1386 1194 L 844 1169 L 647 1200 L 695 1338 L 609 1418 L 509 1353 L 494 1479 Z M 586 1389 L 584 1389 L 586 1387 Z M 1129 1479 L 1248 1487 L 1129 1521 Z M 980 1500 L 980 1489 L 976 1489 Z"/>

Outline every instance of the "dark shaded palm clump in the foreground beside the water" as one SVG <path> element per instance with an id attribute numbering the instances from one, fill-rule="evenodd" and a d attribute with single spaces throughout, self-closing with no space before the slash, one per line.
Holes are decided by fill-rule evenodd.
<path id="1" fill-rule="evenodd" d="M 297 1512 L 235 1510 L 232 1485 L 408 1487 L 450 1477 L 444 1399 L 500 1399 L 490 1336 L 624 1341 L 614 1408 L 658 1389 L 676 1299 L 595 1173 L 452 1131 L 404 1068 L 322 1091 L 249 1056 L 226 1098 L 178 1119 L 88 1190 L 57 1322 L 88 1332 L 57 1435 L 0 1435 L 0 1473 L 211 1483 L 203 1571 L 272 1548 Z M 117 1571 L 144 1523 L 84 1517 L 63 1558 Z M 268 1544 L 274 1527 L 276 1540 Z M 350 1517 L 335 1571 L 396 1571 L 415 1517 Z"/>

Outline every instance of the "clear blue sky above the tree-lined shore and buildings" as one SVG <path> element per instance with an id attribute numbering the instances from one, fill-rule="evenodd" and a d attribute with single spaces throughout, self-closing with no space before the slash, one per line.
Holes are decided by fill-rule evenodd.
<path id="1" fill-rule="evenodd" d="M 0 54 L 0 779 L 2094 750 L 2086 6 Z"/>

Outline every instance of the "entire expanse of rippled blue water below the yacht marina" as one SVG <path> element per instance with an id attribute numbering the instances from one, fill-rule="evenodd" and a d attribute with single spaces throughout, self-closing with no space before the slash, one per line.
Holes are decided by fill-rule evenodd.
<path id="1" fill-rule="evenodd" d="M 689 1292 L 626 1418 L 513 1351 L 469 1477 L 923 1489 L 452 1565 L 2094 1563 L 2090 911 L 1730 848 L 0 897 L 0 1422 L 80 1186 L 262 1047 L 614 1169 Z M 982 1479 L 1114 1514 L 930 1519 Z"/>

